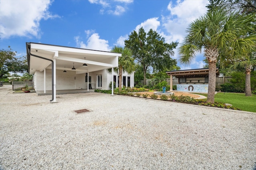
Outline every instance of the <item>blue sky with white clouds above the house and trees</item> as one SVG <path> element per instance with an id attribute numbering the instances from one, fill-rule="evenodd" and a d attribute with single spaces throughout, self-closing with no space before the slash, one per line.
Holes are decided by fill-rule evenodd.
<path id="1" fill-rule="evenodd" d="M 26 56 L 26 42 L 110 51 L 133 30 L 156 30 L 167 43 L 182 42 L 208 0 L 0 0 L 0 49 Z M 178 59 L 178 49 L 173 59 Z M 189 66 L 202 68 L 203 54 Z"/>

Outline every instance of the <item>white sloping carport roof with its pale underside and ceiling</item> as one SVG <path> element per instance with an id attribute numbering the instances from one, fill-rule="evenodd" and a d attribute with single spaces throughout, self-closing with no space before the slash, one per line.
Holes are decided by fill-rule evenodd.
<path id="1" fill-rule="evenodd" d="M 36 70 L 43 71 L 44 68 L 52 69 L 52 67 L 51 61 L 30 56 L 28 49 L 30 49 L 31 54 L 33 55 L 44 57 L 50 60 L 56 59 L 56 70 L 76 71 L 76 74 L 117 67 L 118 57 L 121 57 L 120 53 L 41 43 L 26 43 L 26 47 L 28 57 L 28 71 L 30 74 L 34 74 Z M 84 59 L 84 57 L 86 57 L 86 59 Z M 72 70 L 73 63 L 76 70 Z M 88 66 L 82 66 L 84 63 L 86 63 Z"/>

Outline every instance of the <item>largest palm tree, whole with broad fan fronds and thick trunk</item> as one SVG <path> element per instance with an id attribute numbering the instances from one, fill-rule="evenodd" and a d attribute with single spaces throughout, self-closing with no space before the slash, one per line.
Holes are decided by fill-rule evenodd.
<path id="1" fill-rule="evenodd" d="M 255 28 L 252 27 L 254 20 L 253 14 L 228 14 L 224 10 L 216 9 L 207 12 L 188 26 L 188 34 L 179 48 L 179 61 L 188 65 L 196 52 L 204 49 L 204 57 L 209 64 L 208 103 L 214 103 L 216 62 L 222 62 L 229 57 L 239 58 L 255 46 Z M 254 34 L 248 35 L 250 31 Z"/>

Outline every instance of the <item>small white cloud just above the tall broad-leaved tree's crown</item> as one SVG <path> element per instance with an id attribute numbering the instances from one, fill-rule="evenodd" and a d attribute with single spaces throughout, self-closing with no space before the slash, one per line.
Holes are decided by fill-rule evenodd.
<path id="1" fill-rule="evenodd" d="M 143 27 L 145 32 L 148 32 L 150 29 L 153 29 L 156 31 L 159 26 L 160 26 L 160 21 L 158 21 L 158 17 L 150 18 L 140 23 L 140 25 L 137 25 L 135 28 L 135 31 L 138 32 L 140 27 Z"/>

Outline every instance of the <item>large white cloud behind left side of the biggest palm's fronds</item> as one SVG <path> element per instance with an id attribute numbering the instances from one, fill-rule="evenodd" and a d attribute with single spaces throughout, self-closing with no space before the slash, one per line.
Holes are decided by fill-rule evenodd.
<path id="1" fill-rule="evenodd" d="M 166 33 L 162 33 L 162 36 L 165 37 L 166 42 L 170 43 L 174 41 L 182 43 L 186 36 L 186 29 L 189 23 L 206 14 L 207 8 L 205 6 L 208 3 L 208 0 L 177 0 L 177 4 L 174 6 L 170 2 L 167 7 L 170 15 L 162 16 L 162 26 L 167 31 Z M 174 49 L 174 59 L 178 59 L 178 47 Z M 202 63 L 192 63 L 191 66 L 202 68 L 205 65 L 204 62 Z M 190 67 L 183 68 L 190 69 Z"/>

